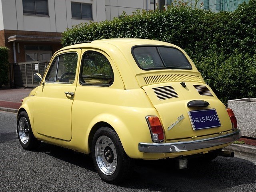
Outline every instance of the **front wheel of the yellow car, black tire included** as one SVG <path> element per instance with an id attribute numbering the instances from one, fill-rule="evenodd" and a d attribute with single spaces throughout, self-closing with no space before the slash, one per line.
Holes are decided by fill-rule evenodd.
<path id="1" fill-rule="evenodd" d="M 25 111 L 20 112 L 17 121 L 17 133 L 21 146 L 26 150 L 36 149 L 40 145 L 32 132 L 28 114 Z"/>

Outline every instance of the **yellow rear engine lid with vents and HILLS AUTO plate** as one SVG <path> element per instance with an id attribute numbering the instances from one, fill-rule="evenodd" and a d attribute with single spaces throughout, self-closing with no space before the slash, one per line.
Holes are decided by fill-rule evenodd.
<path id="1" fill-rule="evenodd" d="M 199 80 L 150 84 L 142 88 L 158 111 L 166 140 L 196 138 L 232 129 L 224 104 Z M 191 102 L 193 100 L 204 102 Z"/>

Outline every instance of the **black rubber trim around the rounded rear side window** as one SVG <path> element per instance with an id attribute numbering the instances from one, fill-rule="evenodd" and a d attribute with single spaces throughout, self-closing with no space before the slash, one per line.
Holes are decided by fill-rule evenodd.
<path id="1" fill-rule="evenodd" d="M 85 56 L 87 53 L 96 53 L 96 54 L 99 54 L 99 55 L 103 56 L 104 58 L 106 58 L 106 60 L 108 61 L 108 64 L 109 64 L 110 67 L 111 67 L 111 71 L 112 71 L 112 73 L 113 73 L 113 78 L 112 78 L 110 84 L 107 84 L 107 85 L 104 85 L 104 84 L 88 84 L 88 83 L 83 83 L 83 82 L 81 82 L 81 77 L 82 77 L 82 72 L 83 72 L 82 68 L 83 68 L 83 66 L 84 66 L 84 64 L 83 64 L 83 62 L 84 62 L 84 56 Z M 113 67 L 112 67 L 110 61 L 108 60 L 108 58 L 107 58 L 104 54 L 102 54 L 102 53 L 100 53 L 100 52 L 97 52 L 97 51 L 94 51 L 94 50 L 88 50 L 88 51 L 86 51 L 86 52 L 83 53 L 83 55 L 82 55 L 82 60 L 81 60 L 81 64 L 80 64 L 79 77 L 78 77 L 78 82 L 79 82 L 79 84 L 80 84 L 81 86 L 110 87 L 110 86 L 112 86 L 112 84 L 114 83 L 114 80 L 115 80 L 115 74 L 114 74 Z"/>

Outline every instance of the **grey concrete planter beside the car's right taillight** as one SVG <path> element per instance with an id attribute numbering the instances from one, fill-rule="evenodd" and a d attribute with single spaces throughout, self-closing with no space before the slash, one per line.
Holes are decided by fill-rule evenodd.
<path id="1" fill-rule="evenodd" d="M 228 108 L 233 110 L 242 136 L 256 138 L 256 98 L 228 100 Z"/>

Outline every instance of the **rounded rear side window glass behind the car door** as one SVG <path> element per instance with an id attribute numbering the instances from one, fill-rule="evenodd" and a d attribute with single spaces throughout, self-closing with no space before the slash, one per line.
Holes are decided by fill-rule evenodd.
<path id="1" fill-rule="evenodd" d="M 82 59 L 80 84 L 109 86 L 114 74 L 108 59 L 100 53 L 86 52 Z"/>

